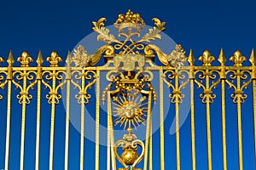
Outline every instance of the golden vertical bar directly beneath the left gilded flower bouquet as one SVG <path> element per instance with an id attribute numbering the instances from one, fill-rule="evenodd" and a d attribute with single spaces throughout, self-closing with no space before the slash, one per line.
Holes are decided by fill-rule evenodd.
<path id="1" fill-rule="evenodd" d="M 84 70 L 82 71 L 82 88 L 84 92 Z M 81 94 L 81 132 L 80 132 L 80 170 L 84 169 L 84 94 Z"/>

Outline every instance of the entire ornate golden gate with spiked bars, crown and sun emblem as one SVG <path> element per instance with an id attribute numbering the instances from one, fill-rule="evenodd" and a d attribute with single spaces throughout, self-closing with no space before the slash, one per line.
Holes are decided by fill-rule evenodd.
<path id="1" fill-rule="evenodd" d="M 0 88 L 7 88 L 7 118 L 6 118 L 6 139 L 5 139 L 5 170 L 9 169 L 9 150 L 10 150 L 10 124 L 11 124 L 11 103 L 12 103 L 12 86 L 15 85 L 19 93 L 17 95 L 18 102 L 22 106 L 21 110 L 21 132 L 20 132 L 20 169 L 24 168 L 24 152 L 26 141 L 26 106 L 30 105 L 32 94 L 30 90 L 37 87 L 37 127 L 36 127 L 36 155 L 35 169 L 39 168 L 39 141 L 40 141 L 40 117 L 42 100 L 47 99 L 51 105 L 50 111 L 50 141 L 49 141 L 49 169 L 53 169 L 54 142 L 55 142 L 55 105 L 58 105 L 61 100 L 60 89 L 67 86 L 67 113 L 66 113 L 66 128 L 65 128 L 65 169 L 68 169 L 68 156 L 70 148 L 69 144 L 69 121 L 70 121 L 70 100 L 75 98 L 80 105 L 81 127 L 80 127 L 80 169 L 84 169 L 84 111 L 85 105 L 90 102 L 90 88 L 96 86 L 96 158 L 95 169 L 100 167 L 100 120 L 102 119 L 100 102 L 107 101 L 108 105 L 108 160 L 107 169 L 124 169 L 124 170 L 139 170 L 153 169 L 154 139 L 152 133 L 152 106 L 157 99 L 160 99 L 160 167 L 165 169 L 168 157 L 165 156 L 165 146 L 168 141 L 165 141 L 165 120 L 164 120 L 164 94 L 167 85 L 167 91 L 170 91 L 170 105 L 175 105 L 175 122 L 176 122 L 176 155 L 177 169 L 183 168 L 182 155 L 180 155 L 180 131 L 179 131 L 179 114 L 180 104 L 183 102 L 185 94 L 183 88 L 190 87 L 190 105 L 191 105 L 191 167 L 196 169 L 195 161 L 195 99 L 201 99 L 201 102 L 206 105 L 206 124 L 207 124 L 207 162 L 208 169 L 212 169 L 212 137 L 211 136 L 211 105 L 218 96 L 213 93 L 214 88 L 221 87 L 221 119 L 222 119 L 222 144 L 223 144 L 223 168 L 228 169 L 227 156 L 229 155 L 228 146 L 226 144 L 226 114 L 225 101 L 226 89 L 232 88 L 233 94 L 230 95 L 233 103 L 237 106 L 237 133 L 238 133 L 238 152 L 239 152 L 239 168 L 243 168 L 242 157 L 242 133 L 241 133 L 241 105 L 246 101 L 247 94 L 244 89 L 249 85 L 253 88 L 253 127 L 254 127 L 254 156 L 256 156 L 256 57 L 254 50 L 252 51 L 249 61 L 250 66 L 244 66 L 246 57 L 242 56 L 240 51 L 236 51 L 230 61 L 232 66 L 225 65 L 226 58 L 224 51 L 221 49 L 218 62 L 220 65 L 212 66 L 212 62 L 216 59 L 211 55 L 209 50 L 203 52 L 198 58 L 202 65 L 195 65 L 195 56 L 190 50 L 189 56 L 186 57 L 183 48 L 177 45 L 171 54 L 164 54 L 162 49 L 151 42 L 155 39 L 161 39 L 160 32 L 165 30 L 165 22 L 154 18 L 154 27 L 148 30 L 148 33 L 141 35 L 141 30 L 145 23 L 140 14 L 134 14 L 129 10 L 126 14 L 119 14 L 114 26 L 119 31 L 119 36 L 125 37 L 125 41 L 120 41 L 110 33 L 109 29 L 104 26 L 105 18 L 93 22 L 93 30 L 98 33 L 99 41 L 107 42 L 101 48 L 98 48 L 95 54 L 88 54 L 83 46 L 79 46 L 72 54 L 67 54 L 66 66 L 59 66 L 63 60 L 56 52 L 50 54 L 46 59 L 49 65 L 43 66 L 44 59 L 39 52 L 36 60 L 37 66 L 30 66 L 32 57 L 23 52 L 17 59 L 20 66 L 14 66 L 15 59 L 13 54 L 9 53 L 9 58 L 6 59 L 8 66 L 0 66 Z M 134 41 L 134 37 L 138 38 Z M 146 43 L 147 42 L 147 43 Z M 104 58 L 106 65 L 98 65 L 100 59 Z M 154 65 L 154 58 L 160 60 L 160 65 Z M 184 66 L 188 62 L 189 66 Z M 0 57 L 0 63 L 3 63 L 3 57 Z M 76 65 L 73 67 L 72 65 Z M 2 64 L 1 64 L 2 65 Z M 123 65 L 123 66 L 122 66 Z M 106 77 L 101 77 L 101 72 L 107 71 Z M 159 71 L 159 92 L 156 94 L 158 87 L 153 87 L 152 81 L 155 79 L 154 71 Z M 103 79 L 103 80 L 102 80 Z M 108 86 L 103 87 L 101 92 L 100 82 L 108 81 Z M 199 98 L 195 96 L 195 88 L 201 88 Z M 42 86 L 45 87 L 48 94 L 44 97 L 42 94 Z M 75 87 L 77 94 L 72 96 L 71 87 Z M 141 95 L 137 98 L 135 93 Z M 5 96 L 0 95 L 0 99 Z M 108 98 L 108 100 L 107 100 Z M 154 101 L 154 102 L 153 102 Z M 116 119 L 113 119 L 115 116 Z M 124 127 L 124 138 L 115 140 L 114 125 Z M 132 127 L 146 126 L 145 141 L 137 139 L 136 131 L 132 131 Z M 143 150 L 138 153 L 138 148 Z M 121 154 L 118 150 L 122 150 Z M 122 167 L 118 167 L 116 160 L 119 161 Z"/>

